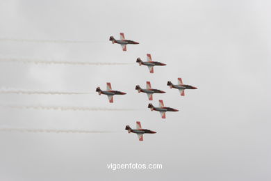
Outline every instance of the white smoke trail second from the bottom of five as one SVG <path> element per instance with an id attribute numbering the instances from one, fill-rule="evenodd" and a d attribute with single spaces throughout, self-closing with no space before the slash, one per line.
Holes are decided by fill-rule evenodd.
<path id="1" fill-rule="evenodd" d="M 39 110 L 58 110 L 58 111 L 135 111 L 136 109 L 112 109 L 102 107 L 60 107 L 60 106 L 22 106 L 22 105 L 6 105 L 12 109 L 39 109 Z"/>

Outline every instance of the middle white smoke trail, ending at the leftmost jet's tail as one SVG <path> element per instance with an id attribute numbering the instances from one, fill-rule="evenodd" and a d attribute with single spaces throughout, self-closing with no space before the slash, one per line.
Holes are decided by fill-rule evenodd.
<path id="1" fill-rule="evenodd" d="M 76 93 L 76 92 L 56 92 L 56 91 L 26 91 L 26 90 L 12 90 L 0 89 L 0 93 L 13 93 L 13 94 L 49 94 L 49 95 L 80 95 L 80 94 L 94 94 L 94 93 Z"/>

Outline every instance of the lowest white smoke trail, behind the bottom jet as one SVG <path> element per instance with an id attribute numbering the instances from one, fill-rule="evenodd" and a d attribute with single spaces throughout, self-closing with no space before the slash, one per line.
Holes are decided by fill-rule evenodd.
<path id="1" fill-rule="evenodd" d="M 30 132 L 30 133 L 115 133 L 109 131 L 88 131 L 73 129 L 26 129 L 26 128 L 9 128 L 0 127 L 0 132 Z"/>

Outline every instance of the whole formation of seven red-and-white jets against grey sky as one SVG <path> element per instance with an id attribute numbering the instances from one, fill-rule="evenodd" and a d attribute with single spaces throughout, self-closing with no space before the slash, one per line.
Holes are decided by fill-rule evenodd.
<path id="1" fill-rule="evenodd" d="M 114 44 L 120 44 L 122 46 L 122 51 L 126 51 L 126 45 L 136 45 L 139 44 L 139 42 L 133 41 L 133 40 L 126 40 L 124 37 L 124 33 L 120 33 L 120 40 L 115 40 L 113 36 L 110 36 L 109 40 Z M 142 61 L 140 58 L 136 59 L 136 62 L 139 63 L 139 65 L 146 65 L 149 68 L 150 73 L 154 73 L 154 66 L 165 66 L 165 63 L 161 63 L 158 61 L 152 61 L 151 54 L 147 54 L 147 61 Z M 176 88 L 179 90 L 181 96 L 184 96 L 184 91 L 186 89 L 197 89 L 195 86 L 190 86 L 187 84 L 183 84 L 183 81 L 181 78 L 178 78 L 178 84 L 174 85 L 171 81 L 167 81 L 167 86 L 170 86 L 170 88 Z M 138 93 L 146 93 L 149 100 L 153 100 L 153 94 L 154 93 L 165 93 L 165 91 L 161 91 L 156 88 L 151 88 L 150 81 L 146 81 L 146 88 L 140 88 L 139 85 L 136 85 L 136 90 Z M 114 95 L 125 95 L 126 93 L 122 91 L 113 91 L 111 88 L 111 84 L 108 82 L 106 83 L 106 91 L 102 91 L 100 87 L 96 88 L 96 92 L 99 93 L 99 95 L 104 94 L 108 96 L 108 100 L 110 103 L 113 103 L 113 96 Z M 178 109 L 174 109 L 172 107 L 165 107 L 163 100 L 159 100 L 159 107 L 154 107 L 153 104 L 149 103 L 148 108 L 151 109 L 151 111 L 158 111 L 161 113 L 161 118 L 165 119 L 165 113 L 167 111 L 176 112 L 179 111 Z M 142 129 L 140 121 L 136 122 L 136 129 L 131 129 L 129 125 L 126 125 L 125 129 L 131 133 L 135 133 L 138 135 L 139 141 L 143 141 L 143 134 L 155 134 L 156 132 L 151 131 L 149 129 Z"/>

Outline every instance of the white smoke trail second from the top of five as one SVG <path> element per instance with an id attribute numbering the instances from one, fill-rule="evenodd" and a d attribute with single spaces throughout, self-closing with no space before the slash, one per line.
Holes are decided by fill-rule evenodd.
<path id="1" fill-rule="evenodd" d="M 60 64 L 60 65 L 131 65 L 133 63 L 106 63 L 106 62 L 80 62 L 80 61 L 46 61 L 40 59 L 22 59 L 22 58 L 0 58 L 3 62 L 20 62 L 20 63 L 36 63 L 36 64 Z"/>

